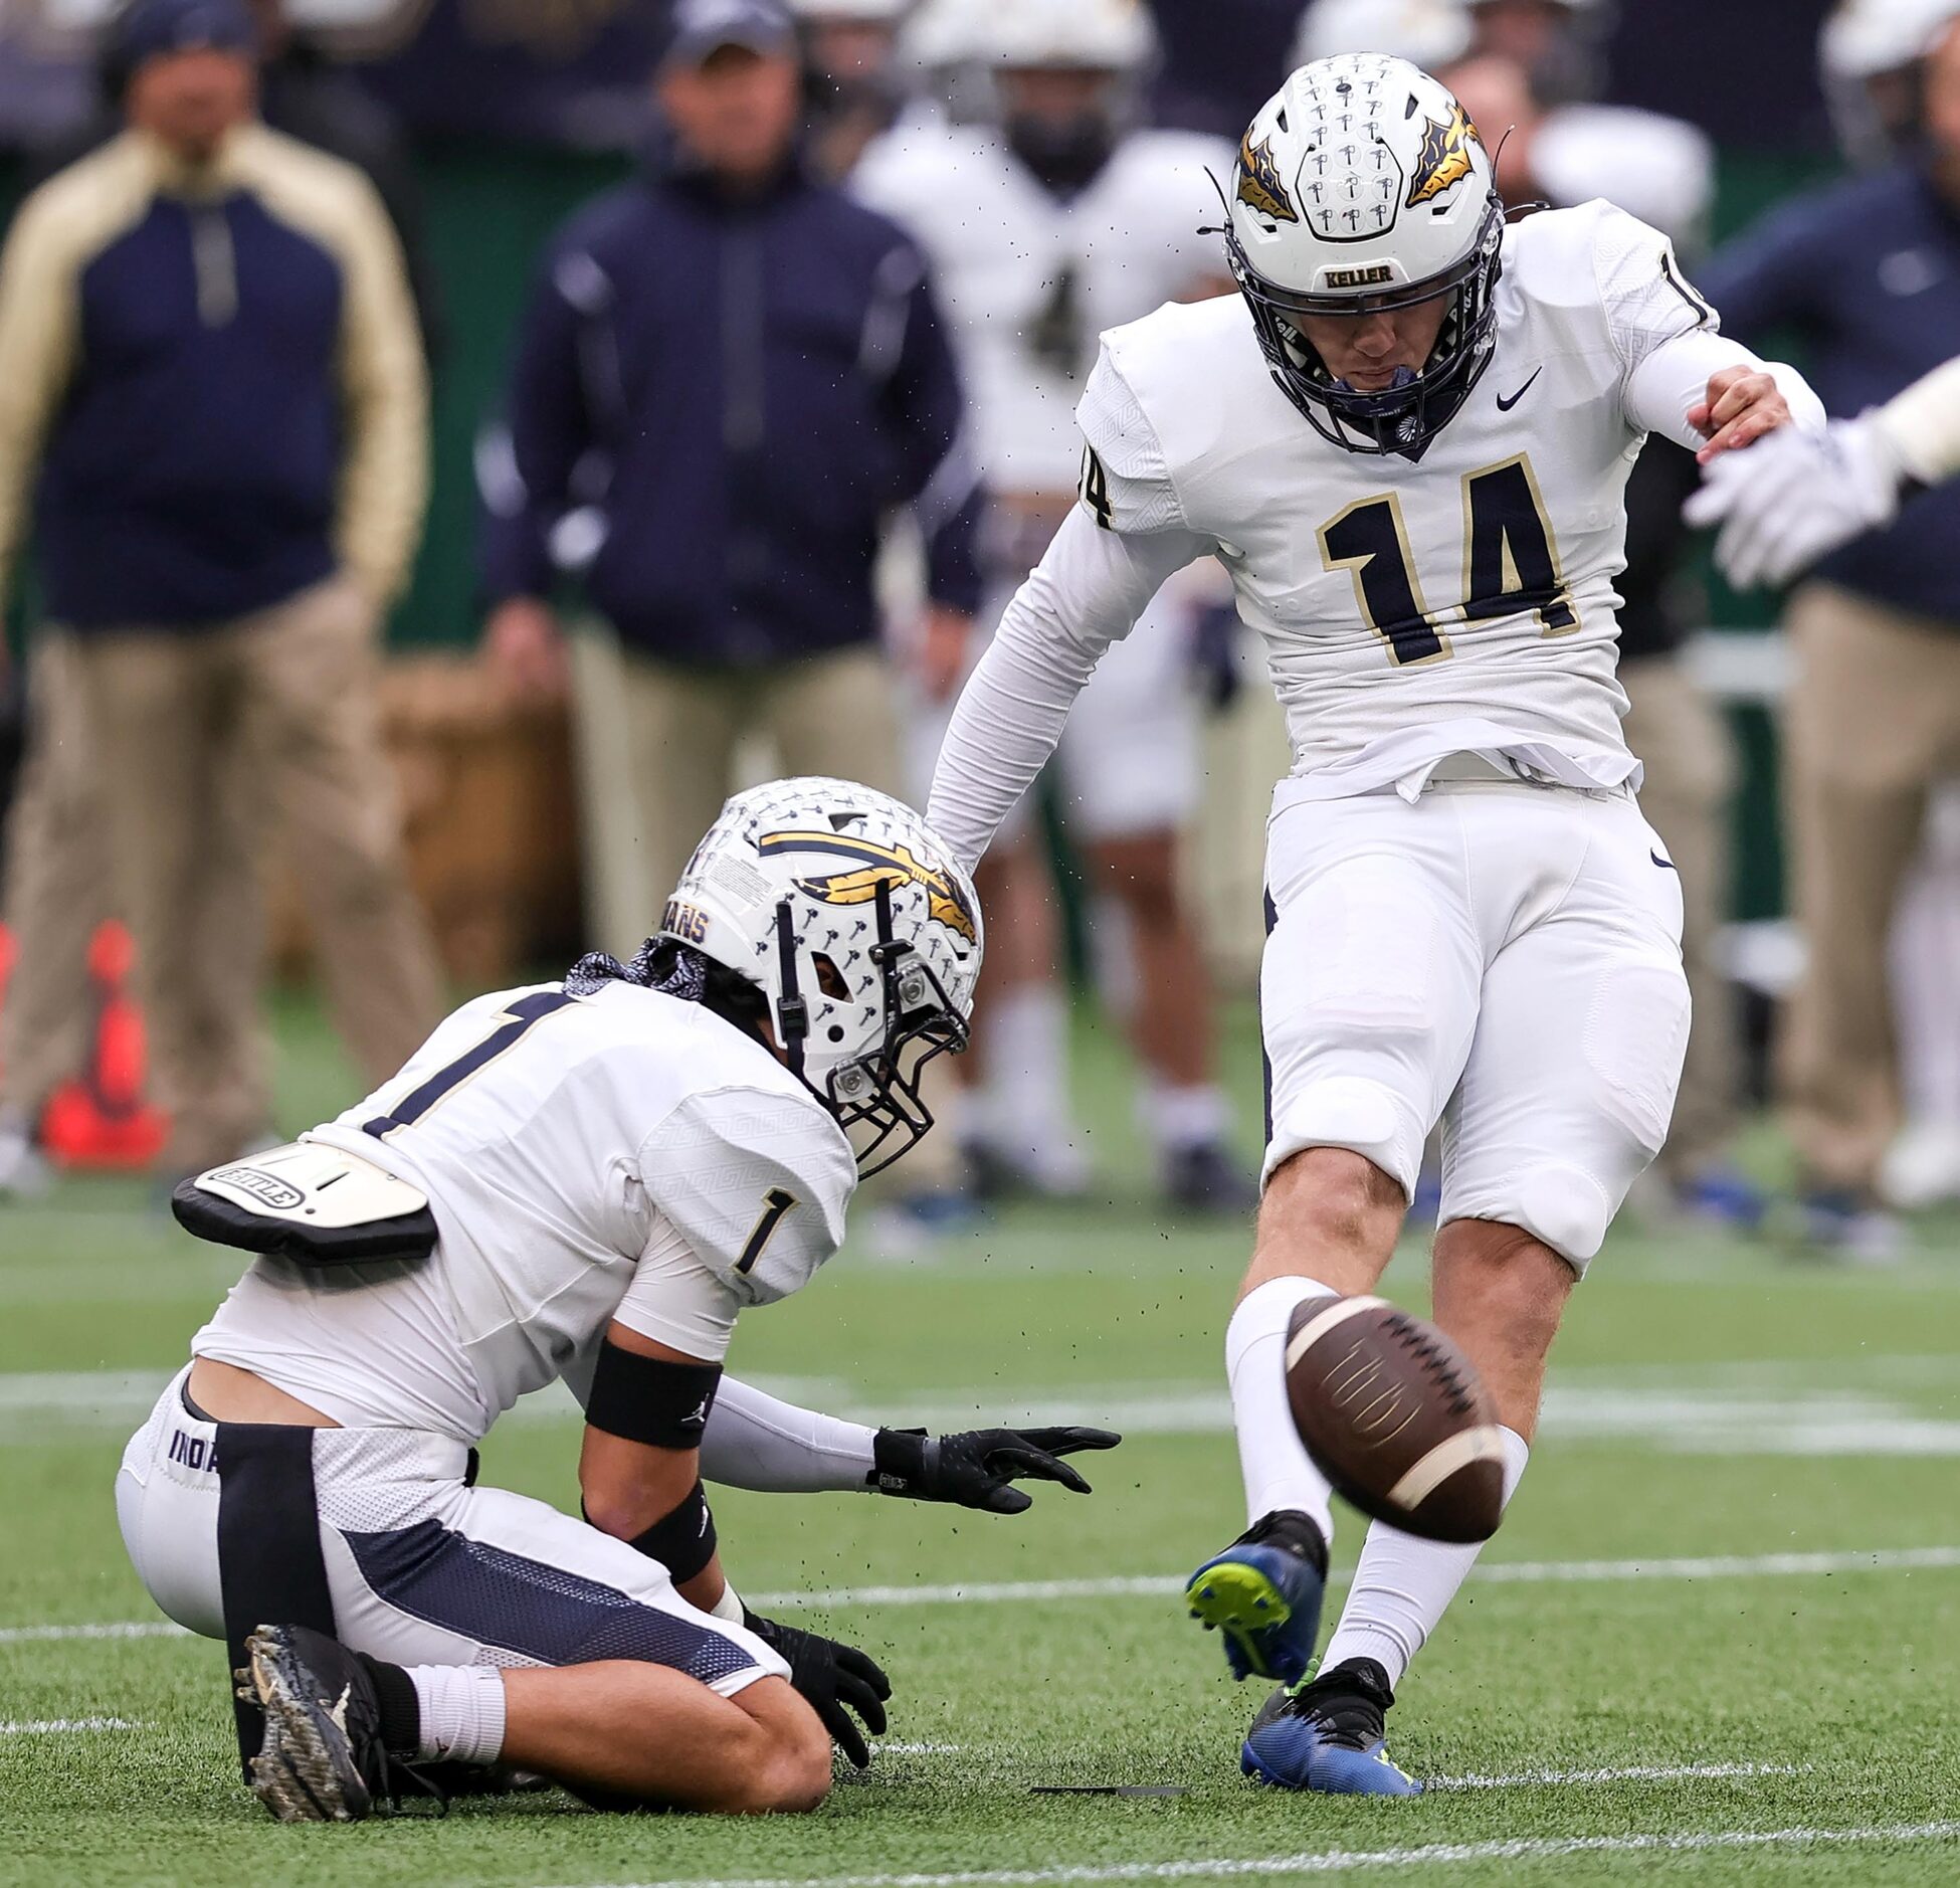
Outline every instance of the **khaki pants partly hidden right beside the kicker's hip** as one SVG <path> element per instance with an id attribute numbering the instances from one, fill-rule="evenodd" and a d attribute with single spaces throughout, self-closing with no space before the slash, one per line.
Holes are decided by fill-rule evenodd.
<path id="1" fill-rule="evenodd" d="M 1646 765 L 1641 812 L 1682 874 L 1682 969 L 1695 1019 L 1658 1165 L 1670 1180 L 1688 1180 L 1727 1157 L 1737 1123 L 1735 992 L 1715 951 L 1729 914 L 1735 743 L 1678 657 L 1639 657 L 1621 665 L 1619 678 L 1633 704 L 1627 745 Z"/>

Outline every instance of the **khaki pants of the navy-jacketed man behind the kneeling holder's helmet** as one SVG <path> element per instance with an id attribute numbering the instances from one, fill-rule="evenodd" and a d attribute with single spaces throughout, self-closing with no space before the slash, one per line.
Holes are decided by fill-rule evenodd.
<path id="1" fill-rule="evenodd" d="M 631 955 L 762 735 L 780 774 L 837 774 L 904 796 L 892 669 L 843 649 L 774 669 L 682 669 L 623 651 L 600 627 L 572 645 L 588 918 Z"/>

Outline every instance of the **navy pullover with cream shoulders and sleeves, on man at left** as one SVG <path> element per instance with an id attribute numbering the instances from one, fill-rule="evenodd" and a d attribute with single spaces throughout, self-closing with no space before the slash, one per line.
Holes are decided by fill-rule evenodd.
<path id="1" fill-rule="evenodd" d="M 339 569 L 376 602 L 402 584 L 427 380 L 349 165 L 261 125 L 198 167 L 123 133 L 22 206 L 0 361 L 0 565 L 31 492 L 53 621 L 196 629 Z"/>

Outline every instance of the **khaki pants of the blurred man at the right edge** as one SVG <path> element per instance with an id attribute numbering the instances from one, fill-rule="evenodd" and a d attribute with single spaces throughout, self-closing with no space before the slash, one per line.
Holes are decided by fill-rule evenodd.
<path id="1" fill-rule="evenodd" d="M 1931 788 L 1960 772 L 1960 629 L 1821 582 L 1791 598 L 1788 629 L 1786 823 L 1809 963 L 1784 1098 L 1809 1178 L 1870 1188 L 1901 1116 L 1886 947 Z"/>

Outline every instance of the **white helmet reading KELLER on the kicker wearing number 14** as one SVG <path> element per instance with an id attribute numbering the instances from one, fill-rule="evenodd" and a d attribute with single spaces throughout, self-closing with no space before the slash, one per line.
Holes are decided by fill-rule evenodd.
<path id="1" fill-rule="evenodd" d="M 1301 67 L 1247 127 L 1225 247 L 1266 365 L 1323 437 L 1417 459 L 1490 365 L 1503 204 L 1468 114 L 1405 59 Z M 1335 380 L 1296 316 L 1450 296 L 1435 351 L 1380 392 Z"/>

